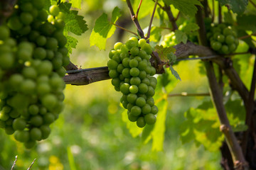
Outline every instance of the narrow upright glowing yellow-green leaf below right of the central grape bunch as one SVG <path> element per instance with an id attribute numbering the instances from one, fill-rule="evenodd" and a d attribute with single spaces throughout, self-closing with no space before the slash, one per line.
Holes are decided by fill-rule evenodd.
<path id="1" fill-rule="evenodd" d="M 166 130 L 166 113 L 168 101 L 162 100 L 156 104 L 158 108 L 161 108 L 159 113 L 157 113 L 156 123 L 154 125 L 154 130 L 152 131 L 152 150 L 162 151 L 164 146 L 164 132 Z"/>

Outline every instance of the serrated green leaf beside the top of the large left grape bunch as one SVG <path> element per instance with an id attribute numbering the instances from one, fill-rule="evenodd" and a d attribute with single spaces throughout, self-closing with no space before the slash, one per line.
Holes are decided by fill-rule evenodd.
<path id="1" fill-rule="evenodd" d="M 60 3 L 59 4 L 60 11 L 65 15 L 65 27 L 63 30 L 63 34 L 67 37 L 67 45 L 68 51 L 71 53 L 72 48 L 75 48 L 78 40 L 68 35 L 69 32 L 74 33 L 75 35 L 82 35 L 85 33 L 87 28 L 86 21 L 83 19 L 83 16 L 78 16 L 78 11 L 70 10 L 70 3 Z"/>

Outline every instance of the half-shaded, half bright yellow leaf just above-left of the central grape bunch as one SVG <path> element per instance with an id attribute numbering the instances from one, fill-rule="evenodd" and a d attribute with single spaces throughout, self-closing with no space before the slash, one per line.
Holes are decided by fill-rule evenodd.
<path id="1" fill-rule="evenodd" d="M 97 18 L 95 27 L 90 35 L 90 46 L 96 45 L 100 50 L 105 50 L 107 38 L 110 38 L 116 30 L 116 27 L 112 23 L 116 23 L 120 16 L 121 13 L 116 6 L 112 11 L 111 21 L 107 19 L 106 13 L 103 13 L 102 16 Z"/>

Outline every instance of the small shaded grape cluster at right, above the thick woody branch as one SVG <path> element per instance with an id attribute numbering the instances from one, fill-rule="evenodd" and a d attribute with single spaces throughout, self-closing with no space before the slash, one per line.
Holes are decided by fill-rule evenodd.
<path id="1" fill-rule="evenodd" d="M 235 30 L 225 23 L 213 26 L 207 34 L 210 47 L 220 54 L 230 54 L 238 47 L 238 38 Z"/>

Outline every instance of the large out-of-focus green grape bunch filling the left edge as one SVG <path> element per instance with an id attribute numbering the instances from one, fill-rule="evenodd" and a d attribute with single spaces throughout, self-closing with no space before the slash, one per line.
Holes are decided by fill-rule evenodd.
<path id="1" fill-rule="evenodd" d="M 44 0 L 18 1 L 0 26 L 0 128 L 26 148 L 50 135 L 63 110 L 69 64 L 65 23 L 58 6 Z"/>

